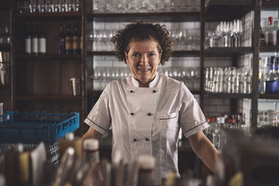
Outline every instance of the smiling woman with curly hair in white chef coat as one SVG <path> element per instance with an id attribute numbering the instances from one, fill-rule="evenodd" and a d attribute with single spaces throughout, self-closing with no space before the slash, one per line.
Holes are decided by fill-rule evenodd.
<path id="1" fill-rule="evenodd" d="M 169 171 L 178 173 L 177 146 L 183 131 L 195 153 L 213 171 L 217 150 L 202 130 L 206 118 L 183 82 L 158 73 L 171 54 L 172 42 L 165 25 L 128 24 L 112 38 L 119 61 L 132 75 L 107 85 L 85 123 L 83 139 L 100 139 L 112 125 L 112 157 L 124 162 L 139 155 L 156 157 L 155 178 L 160 185 Z"/>

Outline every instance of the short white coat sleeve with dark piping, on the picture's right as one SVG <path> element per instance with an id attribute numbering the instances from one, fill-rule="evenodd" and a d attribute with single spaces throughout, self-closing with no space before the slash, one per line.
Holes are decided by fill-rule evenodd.
<path id="1" fill-rule="evenodd" d="M 209 127 L 202 109 L 197 100 L 185 84 L 181 83 L 180 88 L 181 109 L 179 110 L 179 121 L 181 129 L 186 138 Z"/>

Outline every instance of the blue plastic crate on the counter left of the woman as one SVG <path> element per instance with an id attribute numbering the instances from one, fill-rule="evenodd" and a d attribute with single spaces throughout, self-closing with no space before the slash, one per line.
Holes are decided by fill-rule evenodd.
<path id="1" fill-rule="evenodd" d="M 80 127 L 80 114 L 20 113 L 8 111 L 0 115 L 0 143 L 54 144 L 68 132 Z"/>

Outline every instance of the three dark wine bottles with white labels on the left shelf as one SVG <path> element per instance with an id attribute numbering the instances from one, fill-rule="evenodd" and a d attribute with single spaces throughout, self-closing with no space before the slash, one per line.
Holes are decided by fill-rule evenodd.
<path id="1" fill-rule="evenodd" d="M 24 36 L 25 54 L 45 54 L 47 52 L 47 38 L 43 26 L 37 24 L 28 24 L 27 32 Z"/>

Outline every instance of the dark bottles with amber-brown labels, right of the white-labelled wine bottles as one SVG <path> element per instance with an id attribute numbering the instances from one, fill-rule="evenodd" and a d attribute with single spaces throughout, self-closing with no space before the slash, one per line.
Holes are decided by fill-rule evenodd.
<path id="1" fill-rule="evenodd" d="M 68 24 L 65 34 L 63 26 L 60 26 L 60 33 L 58 36 L 58 54 L 81 54 L 82 35 L 80 34 L 78 27 L 78 24 L 76 24 L 72 33 L 71 26 Z"/>

